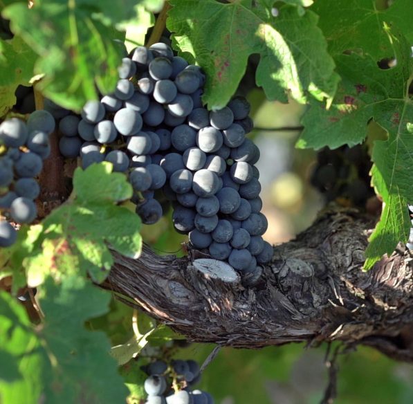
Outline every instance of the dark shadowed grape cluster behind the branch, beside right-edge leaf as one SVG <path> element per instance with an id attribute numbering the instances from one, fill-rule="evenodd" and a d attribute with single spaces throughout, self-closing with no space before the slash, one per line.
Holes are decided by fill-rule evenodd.
<path id="1" fill-rule="evenodd" d="M 370 169 L 371 160 L 365 146 L 322 149 L 311 174 L 311 184 L 324 194 L 327 202 L 341 197 L 365 208 L 367 200 L 374 196 L 374 190 L 369 187 Z"/>

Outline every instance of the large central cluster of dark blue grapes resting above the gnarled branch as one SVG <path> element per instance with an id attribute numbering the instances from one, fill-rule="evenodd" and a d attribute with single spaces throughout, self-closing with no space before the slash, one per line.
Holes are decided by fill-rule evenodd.
<path id="1" fill-rule="evenodd" d="M 259 198 L 259 149 L 250 105 L 233 98 L 219 111 L 203 108 L 205 75 L 158 43 L 138 46 L 118 68 L 114 93 L 87 102 L 80 116 L 48 102 L 59 118 L 59 149 L 82 167 L 104 160 L 124 172 L 143 223 L 172 203 L 178 232 L 214 259 L 259 277 L 272 257 L 262 238 L 268 223 Z"/>

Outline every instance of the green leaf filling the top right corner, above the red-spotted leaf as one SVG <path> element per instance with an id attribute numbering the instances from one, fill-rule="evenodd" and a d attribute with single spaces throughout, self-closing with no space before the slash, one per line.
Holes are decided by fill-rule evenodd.
<path id="1" fill-rule="evenodd" d="M 410 0 L 394 1 L 385 10 L 376 8 L 376 0 L 336 0 L 333 7 L 329 0 L 317 0 L 311 10 L 320 16 L 319 26 L 332 55 L 362 49 L 376 61 L 392 57 L 392 46 L 383 30 L 384 23 L 397 27 L 409 42 L 413 42 Z"/>

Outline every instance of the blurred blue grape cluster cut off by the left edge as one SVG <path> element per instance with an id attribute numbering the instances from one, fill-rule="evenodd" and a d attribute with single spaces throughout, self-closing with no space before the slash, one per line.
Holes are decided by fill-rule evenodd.
<path id="1" fill-rule="evenodd" d="M 35 199 L 40 188 L 36 177 L 43 160 L 51 153 L 49 135 L 55 120 L 44 110 L 30 114 L 27 122 L 19 118 L 0 125 L 0 211 L 15 223 L 31 223 L 37 217 Z M 0 247 L 15 243 L 17 232 L 8 221 L 0 221 Z"/>

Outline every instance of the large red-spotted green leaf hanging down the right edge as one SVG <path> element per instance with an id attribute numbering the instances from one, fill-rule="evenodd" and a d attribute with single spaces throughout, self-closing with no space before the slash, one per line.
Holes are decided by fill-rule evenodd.
<path id="1" fill-rule="evenodd" d="M 393 68 L 380 69 L 369 55 L 336 57 L 342 77 L 336 98 L 329 110 L 313 102 L 302 120 L 305 129 L 297 143 L 314 149 L 356 145 L 365 139 L 371 118 L 387 131 L 388 139 L 376 140 L 373 149 L 373 183 L 385 205 L 369 239 L 365 268 L 391 253 L 399 241 L 405 242 L 410 230 L 407 202 L 413 201 L 413 105 L 408 89 L 413 62 L 403 35 L 389 35 L 389 39 L 397 59 Z"/>

